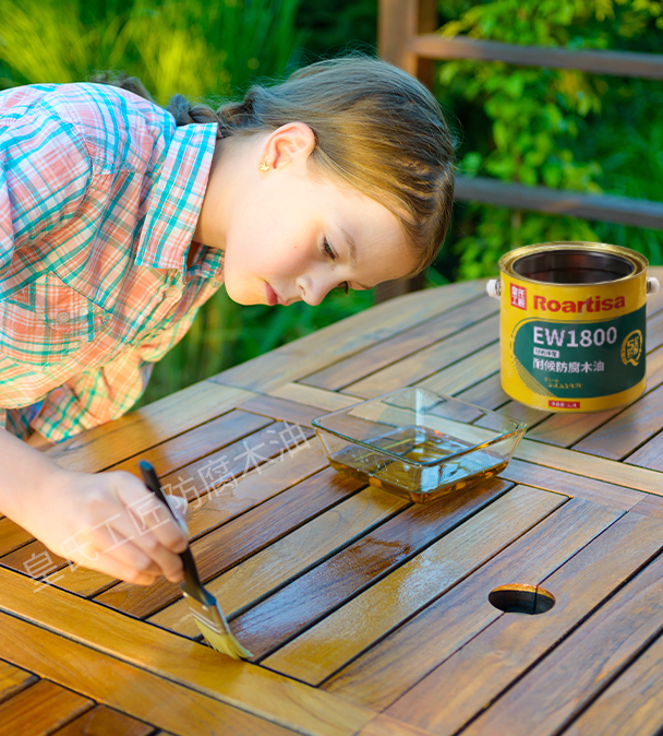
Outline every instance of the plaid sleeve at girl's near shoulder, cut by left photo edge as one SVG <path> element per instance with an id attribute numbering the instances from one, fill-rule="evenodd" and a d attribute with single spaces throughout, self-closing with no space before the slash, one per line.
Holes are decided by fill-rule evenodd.
<path id="1" fill-rule="evenodd" d="M 15 252 L 74 216 L 92 162 L 71 122 L 33 106 L 0 109 L 0 275 Z"/>

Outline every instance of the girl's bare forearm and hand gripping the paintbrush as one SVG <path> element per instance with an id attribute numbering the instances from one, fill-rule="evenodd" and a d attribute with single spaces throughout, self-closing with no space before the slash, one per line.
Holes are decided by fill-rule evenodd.
<path id="1" fill-rule="evenodd" d="M 52 553 L 141 585 L 182 579 L 186 535 L 137 477 L 69 471 L 4 429 L 0 467 L 0 512 Z"/>

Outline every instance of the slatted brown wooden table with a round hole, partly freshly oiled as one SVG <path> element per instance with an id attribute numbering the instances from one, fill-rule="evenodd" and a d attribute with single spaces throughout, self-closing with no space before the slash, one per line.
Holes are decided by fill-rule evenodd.
<path id="1" fill-rule="evenodd" d="M 51 584 L 31 578 L 46 549 L 1 519 L 0 733 L 660 733 L 663 293 L 648 308 L 647 393 L 620 411 L 509 401 L 498 304 L 470 282 L 57 446 L 85 471 L 137 474 L 147 459 L 189 497 L 202 577 L 254 660 L 203 644 L 167 581 L 131 585 L 53 555 Z M 328 467 L 312 417 L 409 384 L 528 422 L 499 478 L 412 504 Z M 556 604 L 503 613 L 487 596 L 511 583 Z"/>

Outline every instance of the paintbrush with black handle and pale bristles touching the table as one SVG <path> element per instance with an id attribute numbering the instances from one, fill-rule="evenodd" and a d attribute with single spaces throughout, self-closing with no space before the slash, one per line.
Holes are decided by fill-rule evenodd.
<path id="1" fill-rule="evenodd" d="M 159 478 L 154 467 L 144 460 L 142 460 L 138 465 L 147 488 L 149 488 L 159 501 L 166 506 L 176 523 L 180 525 L 178 518 L 170 506 L 168 506 L 168 501 L 161 490 L 161 484 L 159 483 Z M 251 656 L 251 652 L 244 649 L 233 637 L 217 600 L 209 593 L 209 591 L 206 591 L 203 587 L 195 562 L 193 561 L 191 548 L 186 547 L 186 549 L 180 554 L 180 557 L 182 558 L 182 563 L 184 566 L 184 582 L 181 585 L 181 591 L 189 603 L 189 609 L 201 630 L 201 633 L 205 637 L 207 643 L 213 649 L 216 649 L 217 652 L 228 654 L 234 660 L 248 660 Z"/>

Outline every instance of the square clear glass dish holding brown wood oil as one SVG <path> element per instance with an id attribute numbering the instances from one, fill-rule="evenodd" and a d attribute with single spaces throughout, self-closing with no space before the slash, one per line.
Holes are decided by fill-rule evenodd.
<path id="1" fill-rule="evenodd" d="M 417 502 L 497 475 L 527 429 L 419 388 L 363 401 L 312 424 L 332 467 Z"/>

